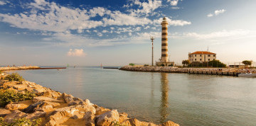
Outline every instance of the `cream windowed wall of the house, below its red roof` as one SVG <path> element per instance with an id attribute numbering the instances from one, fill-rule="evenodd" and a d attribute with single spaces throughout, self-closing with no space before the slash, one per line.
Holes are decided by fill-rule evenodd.
<path id="1" fill-rule="evenodd" d="M 188 55 L 190 62 L 210 62 L 216 60 L 216 55 Z"/>

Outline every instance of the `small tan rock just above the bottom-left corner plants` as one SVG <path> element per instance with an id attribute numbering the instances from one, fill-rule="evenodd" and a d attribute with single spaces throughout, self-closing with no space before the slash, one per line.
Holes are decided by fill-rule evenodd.
<path id="1" fill-rule="evenodd" d="M 12 111 L 10 114 L 6 115 L 4 117 L 4 121 L 11 123 L 13 122 L 13 120 L 18 119 L 18 118 L 25 118 L 26 117 L 26 113 L 23 113 L 19 110 L 14 110 Z"/>

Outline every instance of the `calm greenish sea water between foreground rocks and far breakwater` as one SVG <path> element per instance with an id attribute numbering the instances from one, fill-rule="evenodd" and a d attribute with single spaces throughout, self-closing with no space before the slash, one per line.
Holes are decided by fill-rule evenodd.
<path id="1" fill-rule="evenodd" d="M 23 70 L 25 79 L 149 122 L 256 125 L 256 79 L 77 67 Z"/>

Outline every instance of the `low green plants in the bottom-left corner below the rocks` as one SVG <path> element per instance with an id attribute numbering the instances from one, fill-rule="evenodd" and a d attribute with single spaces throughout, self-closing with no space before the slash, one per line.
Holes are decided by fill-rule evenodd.
<path id="1" fill-rule="evenodd" d="M 2 126 L 22 126 L 22 125 L 27 125 L 27 126 L 35 125 L 35 126 L 38 126 L 38 125 L 41 124 L 41 122 L 42 122 L 41 118 L 34 119 L 32 121 L 28 120 L 27 118 L 19 118 L 19 119 L 14 120 L 14 122 L 7 123 L 7 122 L 4 122 L 4 118 L 0 117 L 0 125 L 2 125 Z"/>

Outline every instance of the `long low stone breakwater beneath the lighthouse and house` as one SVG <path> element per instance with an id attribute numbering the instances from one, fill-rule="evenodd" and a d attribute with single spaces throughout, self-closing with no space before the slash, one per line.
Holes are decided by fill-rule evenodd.
<path id="1" fill-rule="evenodd" d="M 178 67 L 133 67 L 124 66 L 120 68 L 126 71 L 156 71 L 156 72 L 170 72 L 170 73 L 188 73 L 188 71 L 222 71 L 222 72 L 239 72 L 245 73 L 246 69 L 237 68 L 178 68 Z M 250 69 L 252 73 L 256 73 L 256 69 Z"/>

